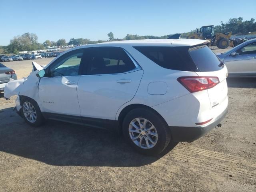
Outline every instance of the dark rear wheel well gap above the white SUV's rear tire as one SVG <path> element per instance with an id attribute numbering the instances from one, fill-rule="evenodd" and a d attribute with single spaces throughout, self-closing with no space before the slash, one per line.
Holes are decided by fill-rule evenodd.
<path id="1" fill-rule="evenodd" d="M 128 112 L 130 112 L 131 110 L 136 109 L 136 108 L 144 108 L 144 109 L 151 110 L 152 112 L 156 113 L 159 116 L 159 118 L 162 118 L 164 123 L 168 126 L 168 124 L 166 123 L 164 118 L 153 108 L 146 106 L 146 105 L 142 105 L 142 104 L 131 104 L 131 105 L 128 105 L 125 108 L 123 108 L 122 111 L 120 112 L 120 114 L 118 116 L 118 127 L 119 128 L 122 128 L 124 118 L 128 114 Z"/>

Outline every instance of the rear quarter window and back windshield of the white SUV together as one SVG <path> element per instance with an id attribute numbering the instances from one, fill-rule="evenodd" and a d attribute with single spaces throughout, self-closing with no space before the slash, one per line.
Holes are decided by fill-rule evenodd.
<path id="1" fill-rule="evenodd" d="M 134 46 L 136 50 L 161 67 L 180 70 L 209 72 L 222 69 L 220 60 L 206 45 L 202 46 Z"/>

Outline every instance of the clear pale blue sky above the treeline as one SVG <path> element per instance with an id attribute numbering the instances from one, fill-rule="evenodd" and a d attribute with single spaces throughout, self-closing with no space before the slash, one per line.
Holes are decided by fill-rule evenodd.
<path id="1" fill-rule="evenodd" d="M 1 0 L 0 7 L 0 45 L 26 32 L 37 34 L 41 43 L 73 37 L 107 40 L 110 31 L 115 38 L 162 36 L 229 18 L 256 19 L 255 0 Z"/>

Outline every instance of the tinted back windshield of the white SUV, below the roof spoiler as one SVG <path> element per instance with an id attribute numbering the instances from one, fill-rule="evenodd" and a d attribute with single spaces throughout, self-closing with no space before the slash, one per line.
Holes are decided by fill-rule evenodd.
<path id="1" fill-rule="evenodd" d="M 188 50 L 194 64 L 200 72 L 217 71 L 222 69 L 219 66 L 219 58 L 206 45 L 195 46 Z"/>

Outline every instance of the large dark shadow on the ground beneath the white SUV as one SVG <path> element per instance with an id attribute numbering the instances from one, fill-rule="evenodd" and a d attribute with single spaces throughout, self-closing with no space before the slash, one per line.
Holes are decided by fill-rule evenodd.
<path id="1" fill-rule="evenodd" d="M 170 143 L 158 156 L 135 152 L 122 135 L 107 130 L 57 121 L 28 126 L 12 108 L 0 111 L 0 151 L 56 166 L 143 166 L 155 162 L 178 143 Z"/>

